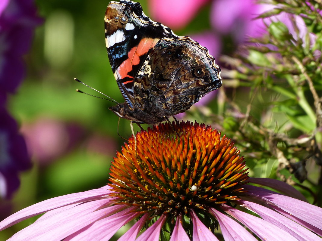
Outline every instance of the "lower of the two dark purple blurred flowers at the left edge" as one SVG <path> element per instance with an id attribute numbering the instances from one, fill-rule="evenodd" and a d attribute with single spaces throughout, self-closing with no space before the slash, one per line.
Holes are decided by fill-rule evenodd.
<path id="1" fill-rule="evenodd" d="M 0 196 L 9 199 L 19 187 L 19 172 L 30 168 L 31 162 L 15 120 L 4 107 L 0 116 Z"/>

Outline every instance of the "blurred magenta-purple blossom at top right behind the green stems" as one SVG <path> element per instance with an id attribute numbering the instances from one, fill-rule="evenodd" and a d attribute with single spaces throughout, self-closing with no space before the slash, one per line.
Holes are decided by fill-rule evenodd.
<path id="1" fill-rule="evenodd" d="M 254 19 L 260 14 L 271 11 L 280 6 L 272 4 L 258 4 L 255 0 L 216 0 L 211 10 L 211 23 L 215 31 L 222 35 L 230 35 L 237 42 L 247 41 L 249 37 L 258 38 L 267 33 L 267 25 L 271 22 L 283 22 L 289 32 L 297 39 L 297 34 L 291 19 L 294 17 L 299 29 L 299 37 L 305 40 L 308 29 L 303 19 L 290 13 L 279 13 L 263 19 Z M 311 42 L 315 36 L 310 34 Z"/>

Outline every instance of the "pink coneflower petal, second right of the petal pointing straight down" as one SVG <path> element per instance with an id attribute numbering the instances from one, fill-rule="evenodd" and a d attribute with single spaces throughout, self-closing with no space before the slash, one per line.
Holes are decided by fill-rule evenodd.
<path id="1" fill-rule="evenodd" d="M 232 218 L 213 208 L 209 211 L 218 220 L 225 241 L 257 241 L 254 236 Z"/>

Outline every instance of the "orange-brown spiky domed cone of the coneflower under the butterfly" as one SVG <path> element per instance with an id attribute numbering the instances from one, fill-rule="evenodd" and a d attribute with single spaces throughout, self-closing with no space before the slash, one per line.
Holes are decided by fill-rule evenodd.
<path id="1" fill-rule="evenodd" d="M 161 123 L 137 133 L 117 153 L 110 195 L 136 211 L 172 218 L 239 200 L 245 192 L 244 158 L 230 138 L 210 126 Z"/>

